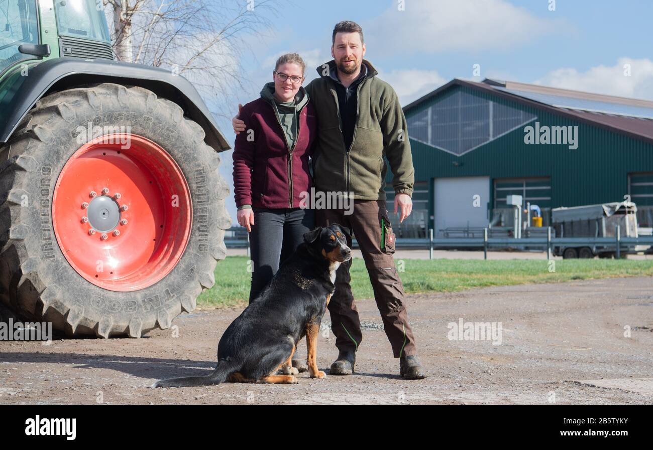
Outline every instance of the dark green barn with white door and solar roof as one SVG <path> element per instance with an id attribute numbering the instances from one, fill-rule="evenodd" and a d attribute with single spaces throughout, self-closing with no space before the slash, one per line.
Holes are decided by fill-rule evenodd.
<path id="1" fill-rule="evenodd" d="M 543 226 L 552 208 L 630 196 L 653 226 L 653 101 L 454 79 L 404 112 L 415 165 L 404 237 L 511 226 L 511 194 L 537 205 Z"/>

